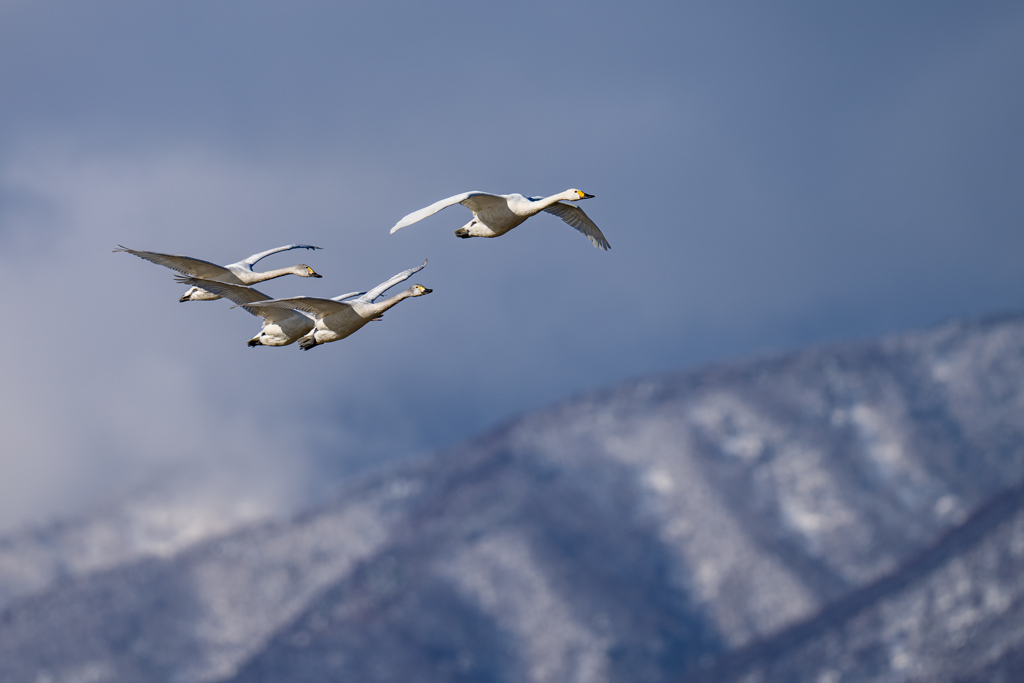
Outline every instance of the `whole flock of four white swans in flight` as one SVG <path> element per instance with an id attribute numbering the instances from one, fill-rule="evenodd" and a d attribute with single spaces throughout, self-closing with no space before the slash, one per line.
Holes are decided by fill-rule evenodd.
<path id="1" fill-rule="evenodd" d="M 566 189 L 551 197 L 463 193 L 414 211 L 399 220 L 391 228 L 391 232 L 394 233 L 402 227 L 419 222 L 441 209 L 462 204 L 473 212 L 473 218 L 455 231 L 460 238 L 501 237 L 527 218 L 547 212 L 582 232 L 598 249 L 607 251 L 610 245 L 594 221 L 584 213 L 583 209 L 569 204 L 591 198 L 593 195 L 581 189 Z M 402 270 L 371 290 L 349 292 L 330 299 L 309 296 L 273 299 L 251 287 L 284 275 L 321 278 L 319 273 L 304 263 L 274 270 L 253 269 L 257 262 L 267 256 L 293 249 L 318 250 L 321 247 L 286 245 L 253 254 L 228 265 L 217 265 L 190 256 L 137 251 L 120 245 L 114 251 L 132 254 L 175 270 L 178 273 L 174 278 L 175 282 L 188 286 L 178 299 L 180 302 L 213 301 L 223 298 L 233 302 L 236 308 L 242 308 L 262 317 L 263 326 L 259 334 L 246 342 L 250 347 L 288 346 L 298 342 L 299 348 L 306 351 L 322 344 L 345 339 L 368 323 L 381 319 L 384 312 L 397 303 L 433 292 L 423 285 L 413 285 L 394 296 L 377 301 L 387 290 L 422 270 L 427 265 L 425 259 L 421 265 Z"/>

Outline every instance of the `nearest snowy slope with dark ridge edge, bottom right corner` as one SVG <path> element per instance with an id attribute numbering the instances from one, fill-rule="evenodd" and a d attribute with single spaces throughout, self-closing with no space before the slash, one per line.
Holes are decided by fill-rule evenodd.
<path id="1" fill-rule="evenodd" d="M 685 680 L 1019 680 L 1022 560 L 1024 485 L 1018 484 L 899 570 Z"/>

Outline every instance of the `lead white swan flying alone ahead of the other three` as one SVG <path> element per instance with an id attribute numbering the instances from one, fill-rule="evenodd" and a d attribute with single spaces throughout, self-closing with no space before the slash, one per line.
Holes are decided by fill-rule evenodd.
<path id="1" fill-rule="evenodd" d="M 530 216 L 547 211 L 587 236 L 598 249 L 608 250 L 610 245 L 604 239 L 594 221 L 578 206 L 564 204 L 591 199 L 581 189 L 566 189 L 551 197 L 523 197 L 522 195 L 492 195 L 489 193 L 463 193 L 446 200 L 435 202 L 425 209 L 414 211 L 391 228 L 393 234 L 407 225 L 423 220 L 441 209 L 461 204 L 473 212 L 473 219 L 455 231 L 460 238 L 497 238 L 505 234 Z"/>

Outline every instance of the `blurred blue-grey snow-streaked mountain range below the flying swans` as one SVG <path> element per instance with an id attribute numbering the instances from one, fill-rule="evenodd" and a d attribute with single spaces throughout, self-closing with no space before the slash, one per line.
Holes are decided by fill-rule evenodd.
<path id="1" fill-rule="evenodd" d="M 1024 315 L 646 378 L 23 582 L 0 680 L 997 680 L 1022 479 Z"/>

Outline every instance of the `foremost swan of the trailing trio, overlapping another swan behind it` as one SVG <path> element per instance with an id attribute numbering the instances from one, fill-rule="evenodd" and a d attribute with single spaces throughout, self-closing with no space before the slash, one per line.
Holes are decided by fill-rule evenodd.
<path id="1" fill-rule="evenodd" d="M 299 340 L 299 348 L 303 351 L 308 351 L 319 344 L 327 344 L 328 342 L 348 337 L 367 323 L 380 318 L 384 311 L 402 299 L 423 296 L 433 292 L 433 290 L 429 290 L 423 285 L 413 285 L 408 290 L 399 292 L 393 297 L 385 299 L 380 303 L 374 303 L 374 299 L 377 299 L 401 281 L 409 280 L 410 275 L 422 270 L 426 264 L 427 261 L 424 260 L 423 265 L 402 270 L 397 275 L 381 283 L 366 294 L 348 299 L 347 301 L 340 301 L 339 299 L 345 299 L 348 295 L 338 297 L 337 299 L 291 297 L 288 299 L 271 299 L 270 301 L 243 303 L 240 305 L 247 310 L 257 310 L 267 307 L 294 308 L 295 310 L 305 311 L 314 315 L 316 323 L 313 329 Z"/>

